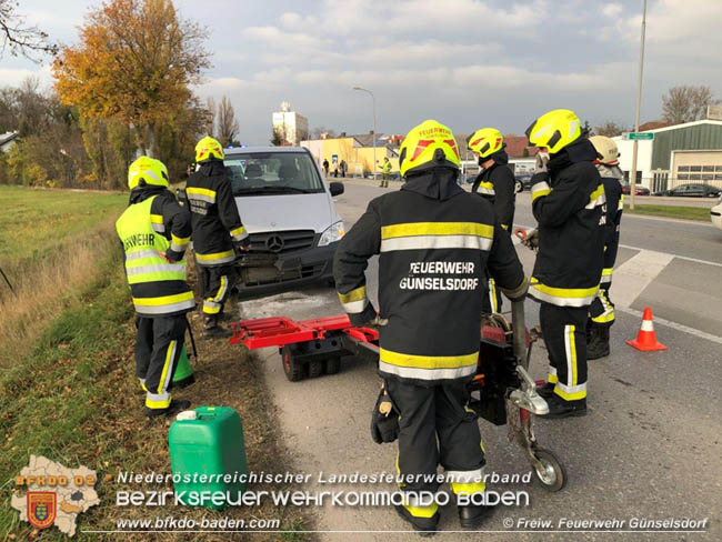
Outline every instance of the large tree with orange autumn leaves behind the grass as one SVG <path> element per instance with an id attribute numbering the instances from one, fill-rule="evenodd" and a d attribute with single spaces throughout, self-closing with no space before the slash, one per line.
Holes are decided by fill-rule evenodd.
<path id="1" fill-rule="evenodd" d="M 188 103 L 210 66 L 205 37 L 171 0 L 110 0 L 87 16 L 80 43 L 61 50 L 56 89 L 83 114 L 132 126 L 142 151 L 157 155 L 158 124 Z"/>

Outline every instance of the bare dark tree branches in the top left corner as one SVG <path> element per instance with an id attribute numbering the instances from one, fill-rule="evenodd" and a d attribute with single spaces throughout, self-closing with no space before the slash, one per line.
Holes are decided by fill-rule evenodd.
<path id="1" fill-rule="evenodd" d="M 19 6 L 18 0 L 0 0 L 0 58 L 10 51 L 13 57 L 22 54 L 38 62 L 42 54 L 56 54 L 58 46 L 38 27 L 26 23 Z"/>

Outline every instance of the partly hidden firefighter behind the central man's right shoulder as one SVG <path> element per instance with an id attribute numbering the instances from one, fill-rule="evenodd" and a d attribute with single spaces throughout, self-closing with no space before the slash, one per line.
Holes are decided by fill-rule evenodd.
<path id="1" fill-rule="evenodd" d="M 479 155 L 481 171 L 471 191 L 488 199 L 494 205 L 494 212 L 501 227 L 510 234 L 514 224 L 514 174 L 509 168 L 509 155 L 504 148 L 504 137 L 495 128 L 482 128 L 469 137 L 468 145 Z M 489 277 L 489 295 L 484 297 L 484 312 L 501 312 L 501 292 L 497 281 Z"/>

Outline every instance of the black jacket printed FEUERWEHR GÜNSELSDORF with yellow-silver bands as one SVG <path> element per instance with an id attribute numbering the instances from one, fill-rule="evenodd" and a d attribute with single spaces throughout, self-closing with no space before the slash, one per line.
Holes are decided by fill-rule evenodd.
<path id="1" fill-rule="evenodd" d="M 408 178 L 398 192 L 369 203 L 335 252 L 339 299 L 355 325 L 375 310 L 367 297 L 368 260 L 379 257 L 379 372 L 433 385 L 475 373 L 484 268 L 508 297 L 527 280 L 491 203 L 465 192 L 452 169 Z"/>

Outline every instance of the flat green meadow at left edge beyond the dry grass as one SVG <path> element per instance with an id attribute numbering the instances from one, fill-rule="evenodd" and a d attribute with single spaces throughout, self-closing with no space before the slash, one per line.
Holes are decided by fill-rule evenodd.
<path id="1" fill-rule="evenodd" d="M 126 193 L 0 187 L 0 265 L 42 258 L 127 204 Z"/>

